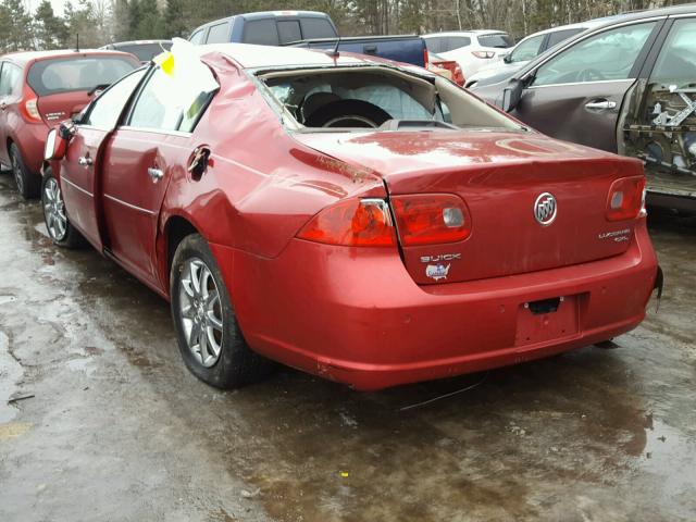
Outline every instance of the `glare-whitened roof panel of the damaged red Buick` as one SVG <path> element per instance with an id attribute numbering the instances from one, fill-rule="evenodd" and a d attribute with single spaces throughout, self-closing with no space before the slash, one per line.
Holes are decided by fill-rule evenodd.
<path id="1" fill-rule="evenodd" d="M 251 44 L 211 44 L 196 46 L 202 57 L 210 52 L 220 52 L 229 57 L 244 69 L 287 67 L 287 66 L 326 66 L 326 65 L 376 65 L 386 61 L 362 54 L 341 52 L 337 59 L 324 49 L 299 47 L 269 47 Z"/>

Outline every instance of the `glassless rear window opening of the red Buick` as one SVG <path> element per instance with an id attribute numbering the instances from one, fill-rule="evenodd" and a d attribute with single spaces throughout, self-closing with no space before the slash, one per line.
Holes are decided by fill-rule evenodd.
<path id="1" fill-rule="evenodd" d="M 261 80 L 268 87 L 271 104 L 279 105 L 284 117 L 291 116 L 294 125 L 303 132 L 519 128 L 444 78 L 421 77 L 391 67 L 275 72 L 265 73 Z"/>

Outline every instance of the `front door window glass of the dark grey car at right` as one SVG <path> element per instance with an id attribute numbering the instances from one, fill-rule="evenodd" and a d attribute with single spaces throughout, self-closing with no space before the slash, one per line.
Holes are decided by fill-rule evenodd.
<path id="1" fill-rule="evenodd" d="M 649 22 L 586 38 L 542 65 L 532 85 L 629 79 L 654 28 Z"/>

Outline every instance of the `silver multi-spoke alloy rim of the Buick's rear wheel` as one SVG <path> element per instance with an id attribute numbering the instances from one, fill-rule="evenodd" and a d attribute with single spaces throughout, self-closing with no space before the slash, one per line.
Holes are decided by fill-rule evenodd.
<path id="1" fill-rule="evenodd" d="M 184 264 L 178 306 L 188 349 L 204 368 L 213 366 L 222 352 L 222 304 L 215 279 L 199 258 L 190 258 Z"/>

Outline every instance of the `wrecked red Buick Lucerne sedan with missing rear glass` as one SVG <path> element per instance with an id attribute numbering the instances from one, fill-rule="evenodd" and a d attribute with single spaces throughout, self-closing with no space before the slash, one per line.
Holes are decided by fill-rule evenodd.
<path id="1" fill-rule="evenodd" d="M 638 161 L 421 69 L 198 49 L 214 87 L 152 64 L 52 132 L 42 203 L 55 244 L 85 238 L 171 301 L 204 382 L 240 386 L 273 360 L 378 389 L 644 319 L 661 277 Z"/>

